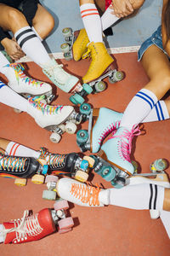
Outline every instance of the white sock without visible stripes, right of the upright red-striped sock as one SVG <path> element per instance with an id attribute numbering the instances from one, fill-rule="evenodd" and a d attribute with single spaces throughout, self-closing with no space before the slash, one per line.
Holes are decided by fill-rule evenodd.
<path id="1" fill-rule="evenodd" d="M 105 13 L 101 16 L 101 25 L 102 25 L 102 29 L 103 31 L 112 26 L 117 20 L 119 20 L 120 18 L 116 17 L 116 15 L 111 14 L 111 12 L 113 12 L 113 9 L 106 9 Z"/>

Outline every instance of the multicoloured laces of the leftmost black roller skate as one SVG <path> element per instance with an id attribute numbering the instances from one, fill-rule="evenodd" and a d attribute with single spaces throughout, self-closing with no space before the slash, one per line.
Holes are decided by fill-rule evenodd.
<path id="1" fill-rule="evenodd" d="M 16 158 L 0 154 L 0 170 L 19 171 L 25 170 L 26 158 Z"/>

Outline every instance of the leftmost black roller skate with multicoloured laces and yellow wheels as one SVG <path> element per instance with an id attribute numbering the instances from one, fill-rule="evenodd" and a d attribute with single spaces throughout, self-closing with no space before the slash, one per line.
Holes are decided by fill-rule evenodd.
<path id="1" fill-rule="evenodd" d="M 26 179 L 31 177 L 32 183 L 42 184 L 48 166 L 42 166 L 33 157 L 19 157 L 0 154 L 0 176 L 15 178 L 18 186 L 26 186 Z"/>

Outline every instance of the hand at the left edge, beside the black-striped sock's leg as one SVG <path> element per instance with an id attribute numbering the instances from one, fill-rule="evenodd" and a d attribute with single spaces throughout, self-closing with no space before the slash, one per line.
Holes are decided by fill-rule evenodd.
<path id="1" fill-rule="evenodd" d="M 4 49 L 6 50 L 7 54 L 14 60 L 18 61 L 20 58 L 24 57 L 25 53 L 20 48 L 20 45 L 17 44 L 15 39 L 8 39 L 4 38 L 1 41 L 1 44 L 3 45 Z"/>

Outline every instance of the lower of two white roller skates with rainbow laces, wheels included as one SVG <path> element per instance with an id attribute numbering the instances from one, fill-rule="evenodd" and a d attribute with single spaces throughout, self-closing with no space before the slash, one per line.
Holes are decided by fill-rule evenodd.
<path id="1" fill-rule="evenodd" d="M 65 131 L 73 134 L 77 130 L 77 124 L 82 120 L 82 115 L 76 113 L 72 106 L 49 106 L 41 101 L 41 97 L 28 99 L 29 113 L 42 128 L 53 131 L 50 140 L 59 143 L 61 134 Z"/>

